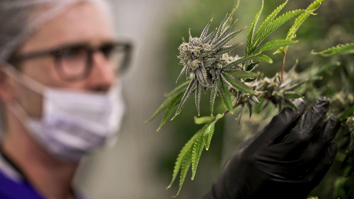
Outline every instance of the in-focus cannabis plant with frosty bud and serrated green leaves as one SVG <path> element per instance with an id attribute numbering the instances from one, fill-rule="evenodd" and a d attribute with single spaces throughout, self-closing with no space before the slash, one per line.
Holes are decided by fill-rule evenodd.
<path id="1" fill-rule="evenodd" d="M 193 37 L 189 29 L 188 42 L 183 39 L 182 44 L 178 47 L 179 63 L 183 65 L 183 68 L 176 83 L 184 74 L 186 75 L 186 81 L 165 95 L 167 97 L 166 100 L 145 123 L 148 123 L 166 109 L 165 115 L 157 129 L 157 131 L 159 131 L 167 119 L 171 117 L 174 110 L 176 110 L 176 112 L 172 116 L 172 119 L 181 113 L 184 105 L 194 92 L 196 110 L 199 116 L 201 92 L 202 90 L 206 91 L 208 89 L 211 90 L 211 114 L 210 116 L 194 117 L 195 123 L 203 124 L 203 126 L 190 138 L 178 154 L 173 169 L 172 180 L 167 188 L 172 186 L 177 175 L 180 173 L 179 193 L 191 165 L 192 180 L 194 179 L 202 150 L 204 148 L 206 150 L 209 149 L 215 124 L 225 114 L 228 112 L 234 114 L 234 109 L 239 107 L 238 113 L 236 113 L 236 119 L 238 120 L 238 124 L 240 124 L 245 108 L 247 107 L 249 109 L 249 117 L 251 118 L 253 107 L 260 104 L 260 97 L 265 99 L 262 107 L 266 107 L 271 102 L 279 107 L 279 109 L 281 109 L 282 105 L 296 109 L 292 100 L 304 97 L 301 93 L 301 87 L 320 79 L 318 75 L 320 72 L 336 65 L 328 64 L 321 68 L 309 68 L 301 73 L 296 72 L 295 65 L 288 72 L 284 72 L 287 49 L 289 45 L 298 42 L 297 40 L 293 40 L 296 37 L 298 28 L 310 15 L 315 15 L 313 12 L 317 10 L 324 1 L 325 0 L 315 0 L 306 9 L 292 10 L 278 16 L 282 8 L 284 8 L 288 2 L 288 0 L 286 0 L 283 4 L 275 8 L 261 25 L 256 28 L 263 10 L 262 1 L 261 8 L 257 12 L 248 30 L 247 40 L 245 41 L 245 53 L 243 56 L 231 55 L 231 51 L 243 43 L 228 45 L 230 40 L 245 29 L 244 27 L 240 30 L 233 31 L 237 22 L 237 19 L 233 20 L 233 15 L 238 8 L 239 1 L 235 8 L 225 16 L 218 28 L 212 30 L 211 33 L 209 33 L 209 27 L 212 19 L 207 23 L 199 37 Z M 289 29 L 285 39 L 264 42 L 274 30 L 296 16 L 295 23 Z M 263 52 L 274 49 L 276 49 L 274 54 L 283 53 L 281 72 L 276 73 L 272 78 L 252 72 L 260 62 L 273 63 L 272 58 L 264 55 Z M 336 55 L 339 53 L 353 53 L 353 45 L 337 46 L 319 52 L 320 55 Z M 213 109 L 217 96 L 221 98 L 226 110 L 224 113 L 214 115 Z M 337 97 L 337 99 L 339 98 Z M 333 101 L 336 100 L 333 99 Z M 343 103 L 343 108 L 333 111 L 333 114 L 338 115 L 344 112 L 341 119 L 347 121 L 346 124 L 349 130 L 352 131 L 354 129 L 354 119 L 351 118 L 353 111 L 354 108 L 348 109 L 347 103 L 345 102 Z M 354 148 L 354 143 L 351 143 L 351 146 Z M 350 154 L 354 155 L 352 151 Z M 354 168 L 354 165 L 352 167 Z"/>

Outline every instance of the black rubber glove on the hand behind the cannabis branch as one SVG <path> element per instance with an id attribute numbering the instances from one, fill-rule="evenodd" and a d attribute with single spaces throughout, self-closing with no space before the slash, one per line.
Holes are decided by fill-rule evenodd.
<path id="1" fill-rule="evenodd" d="M 304 113 L 297 99 L 250 139 L 242 142 L 224 165 L 204 199 L 303 199 L 330 169 L 337 154 L 331 143 L 340 121 L 331 117 L 322 126 L 329 102 L 317 99 Z"/>

